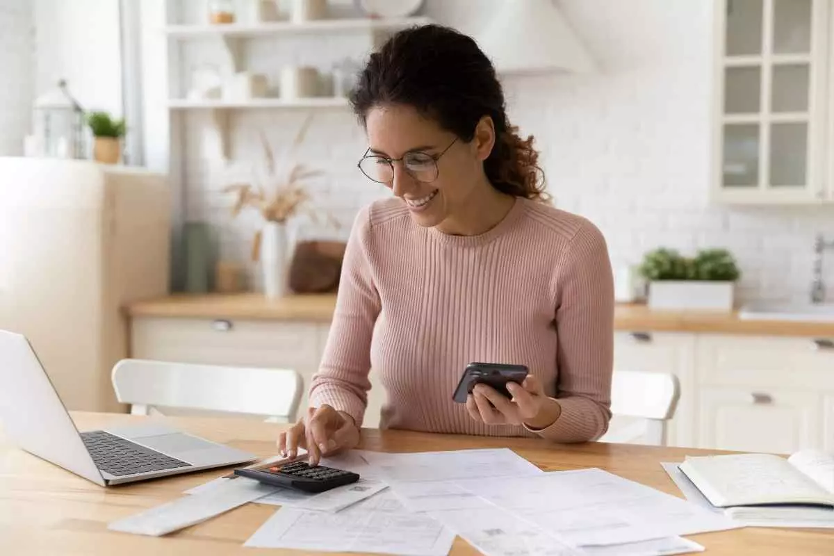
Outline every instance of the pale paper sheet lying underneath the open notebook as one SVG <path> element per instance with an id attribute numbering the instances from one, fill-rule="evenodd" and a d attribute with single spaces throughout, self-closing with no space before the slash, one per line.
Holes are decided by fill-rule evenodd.
<path id="1" fill-rule="evenodd" d="M 663 462 L 661 466 L 669 474 L 686 499 L 714 513 L 721 513 L 743 527 L 810 527 L 834 528 L 834 511 L 825 508 L 782 506 L 772 508 L 716 508 L 678 468 L 678 463 Z"/>

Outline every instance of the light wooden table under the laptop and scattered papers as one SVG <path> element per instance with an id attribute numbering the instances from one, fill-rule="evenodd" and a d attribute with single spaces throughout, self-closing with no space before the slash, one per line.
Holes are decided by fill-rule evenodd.
<path id="1" fill-rule="evenodd" d="M 129 423 L 144 417 L 73 413 L 81 430 Z M 284 425 L 239 418 L 169 418 L 173 426 L 228 443 L 260 456 L 274 455 Z M 362 448 L 419 452 L 460 448 L 509 447 L 548 471 L 598 467 L 680 496 L 661 461 L 682 461 L 706 450 L 588 443 L 555 446 L 536 439 L 480 438 L 404 431 L 364 431 Z M 0 432 L 0 554 L 275 554 L 244 548 L 244 541 L 275 508 L 246 504 L 229 513 L 163 538 L 107 530 L 107 523 L 181 496 L 183 490 L 224 473 L 213 470 L 113 488 L 102 488 L 51 463 L 14 448 Z M 692 535 L 707 554 L 832 554 L 834 531 L 821 529 L 742 528 Z M 452 554 L 477 554 L 460 538 Z"/>

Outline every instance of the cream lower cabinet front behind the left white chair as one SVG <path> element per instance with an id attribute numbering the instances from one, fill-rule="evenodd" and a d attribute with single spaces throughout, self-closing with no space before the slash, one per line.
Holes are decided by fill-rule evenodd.
<path id="1" fill-rule="evenodd" d="M 299 412 L 319 368 L 329 325 L 279 320 L 134 317 L 131 357 L 252 367 L 292 368 L 304 379 Z M 371 374 L 364 427 L 379 424 L 384 390 Z"/>

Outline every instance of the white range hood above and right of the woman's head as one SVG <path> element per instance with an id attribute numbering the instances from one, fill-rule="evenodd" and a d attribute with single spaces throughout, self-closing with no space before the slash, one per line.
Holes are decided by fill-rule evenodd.
<path id="1" fill-rule="evenodd" d="M 552 0 L 498 0 L 475 36 L 498 73 L 592 73 L 595 63 Z"/>

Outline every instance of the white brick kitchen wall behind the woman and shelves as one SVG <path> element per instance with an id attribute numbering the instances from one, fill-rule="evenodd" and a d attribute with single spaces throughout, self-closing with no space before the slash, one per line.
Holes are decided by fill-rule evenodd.
<path id="1" fill-rule="evenodd" d="M 636 263 L 661 245 L 687 253 L 723 246 L 741 263 L 742 298 L 805 300 L 813 235 L 834 237 L 834 208 L 728 209 L 707 200 L 711 4 L 562 0 L 560 7 L 600 73 L 510 78 L 505 83 L 510 115 L 522 132 L 535 135 L 558 205 L 600 226 L 615 265 Z M 490 13 L 486 0 L 430 0 L 428 8 L 441 23 L 467 28 Z M 294 40 L 314 63 L 359 48 L 344 38 Z M 212 56 L 207 48 L 183 49 L 183 62 Z M 274 71 L 289 50 L 277 42 L 263 44 L 250 52 L 252 64 Z M 281 144 L 299 119 L 299 113 L 239 113 L 231 122 L 235 156 L 258 158 L 257 127 Z M 244 260 L 258 219 L 229 216 L 219 190 L 234 173 L 218 172 L 203 153 L 208 116 L 192 113 L 185 122 L 186 217 L 216 224 L 224 257 Z M 354 119 L 338 111 L 320 113 L 301 151 L 304 161 L 329 169 L 316 193 L 344 223 L 361 204 L 386 194 L 355 169 L 363 151 Z M 834 298 L 834 258 L 826 274 Z"/>

